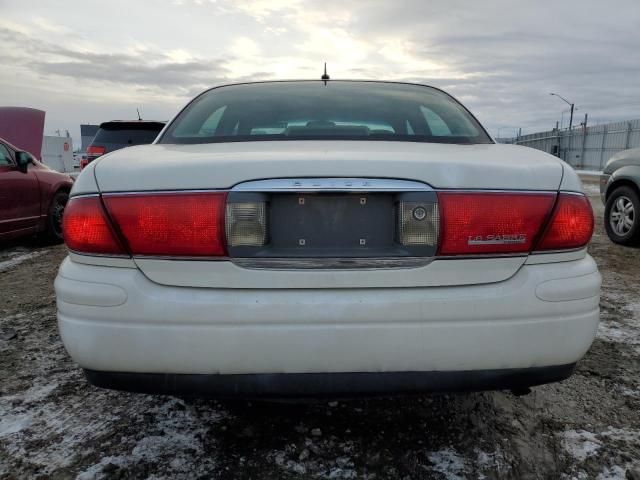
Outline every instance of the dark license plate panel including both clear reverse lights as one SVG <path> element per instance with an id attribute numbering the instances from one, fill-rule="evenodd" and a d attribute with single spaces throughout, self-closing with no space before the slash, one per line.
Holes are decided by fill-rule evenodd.
<path id="1" fill-rule="evenodd" d="M 438 224 L 432 191 L 238 191 L 225 213 L 227 251 L 236 259 L 378 258 L 388 266 L 391 257 L 433 257 Z"/>

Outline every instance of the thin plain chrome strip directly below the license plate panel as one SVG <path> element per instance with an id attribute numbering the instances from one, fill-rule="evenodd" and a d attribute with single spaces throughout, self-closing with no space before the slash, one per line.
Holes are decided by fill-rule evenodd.
<path id="1" fill-rule="evenodd" d="M 386 258 L 231 258 L 242 268 L 263 270 L 366 270 L 418 268 L 429 265 L 434 257 Z"/>

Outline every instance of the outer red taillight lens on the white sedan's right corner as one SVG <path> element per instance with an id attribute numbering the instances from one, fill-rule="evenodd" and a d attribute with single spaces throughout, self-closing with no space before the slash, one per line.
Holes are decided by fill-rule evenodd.
<path id="1" fill-rule="evenodd" d="M 549 226 L 536 250 L 582 248 L 593 235 L 593 210 L 587 197 L 561 193 Z"/>

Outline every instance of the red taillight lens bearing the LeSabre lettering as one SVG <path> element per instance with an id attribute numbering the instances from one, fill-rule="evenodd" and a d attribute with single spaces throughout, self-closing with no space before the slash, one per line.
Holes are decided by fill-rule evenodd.
<path id="1" fill-rule="evenodd" d="M 555 198 L 554 193 L 439 192 L 439 253 L 528 253 Z"/>

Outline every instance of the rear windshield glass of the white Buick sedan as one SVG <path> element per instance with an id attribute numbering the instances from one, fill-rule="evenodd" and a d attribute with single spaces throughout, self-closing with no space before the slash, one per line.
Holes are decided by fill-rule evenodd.
<path id="1" fill-rule="evenodd" d="M 492 143 L 440 90 L 335 80 L 214 88 L 193 100 L 159 143 L 322 139 Z"/>

